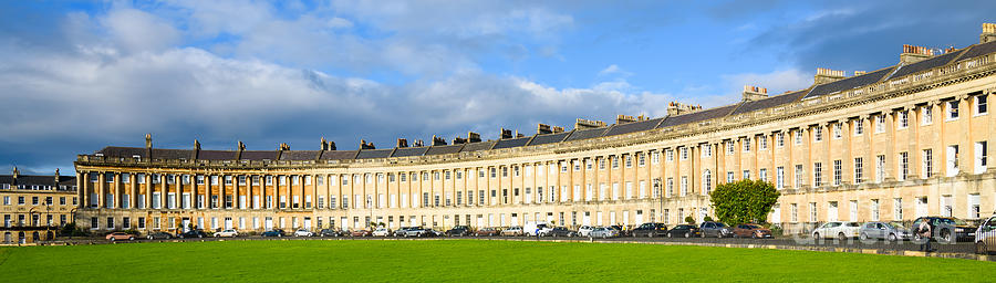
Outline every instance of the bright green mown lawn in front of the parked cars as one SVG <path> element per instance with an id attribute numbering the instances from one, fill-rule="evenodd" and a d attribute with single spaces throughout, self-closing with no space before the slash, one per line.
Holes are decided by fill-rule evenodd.
<path id="1" fill-rule="evenodd" d="M 4 282 L 992 282 L 958 259 L 626 243 L 225 241 L 0 249 Z"/>

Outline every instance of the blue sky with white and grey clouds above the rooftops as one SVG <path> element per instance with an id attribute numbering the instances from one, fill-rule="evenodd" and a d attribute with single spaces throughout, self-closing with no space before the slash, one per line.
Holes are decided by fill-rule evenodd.
<path id="1" fill-rule="evenodd" d="M 620 3 L 625 2 L 625 3 Z M 708 3 L 701 3 L 708 2 Z M 107 145 L 340 149 L 718 106 L 965 46 L 994 1 L 0 1 L 0 174 Z"/>

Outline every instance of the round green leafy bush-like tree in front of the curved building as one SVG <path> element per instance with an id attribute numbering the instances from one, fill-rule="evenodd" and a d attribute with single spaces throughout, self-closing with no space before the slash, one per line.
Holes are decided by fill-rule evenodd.
<path id="1" fill-rule="evenodd" d="M 766 221 L 779 196 L 775 186 L 761 180 L 723 184 L 709 193 L 716 218 L 730 224 Z"/>

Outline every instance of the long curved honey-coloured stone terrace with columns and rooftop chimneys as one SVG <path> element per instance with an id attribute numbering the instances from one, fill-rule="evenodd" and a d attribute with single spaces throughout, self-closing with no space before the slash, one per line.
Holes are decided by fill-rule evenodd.
<path id="1" fill-rule="evenodd" d="M 806 90 L 746 86 L 726 106 L 671 103 L 665 117 L 502 129 L 496 140 L 210 150 L 156 148 L 146 136 L 144 147 L 77 156 L 74 217 L 102 231 L 674 224 L 710 216 L 716 186 L 760 179 L 781 192 L 768 222 L 789 232 L 979 219 L 996 210 L 996 25 L 983 24 L 979 41 L 904 45 L 895 65 L 819 69 Z"/>

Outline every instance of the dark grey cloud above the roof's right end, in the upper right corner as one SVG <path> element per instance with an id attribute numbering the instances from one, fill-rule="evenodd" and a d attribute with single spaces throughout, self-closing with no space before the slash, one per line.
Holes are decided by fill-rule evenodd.
<path id="1" fill-rule="evenodd" d="M 993 1 L 864 1 L 820 4 L 816 13 L 753 39 L 754 52 L 775 51 L 802 70 L 865 70 L 899 62 L 902 44 L 963 48 L 977 43 Z"/>

